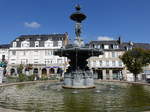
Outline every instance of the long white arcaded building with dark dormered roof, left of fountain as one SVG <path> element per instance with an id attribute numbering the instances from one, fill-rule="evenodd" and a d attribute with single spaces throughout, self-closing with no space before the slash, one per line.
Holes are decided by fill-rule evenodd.
<path id="1" fill-rule="evenodd" d="M 54 51 L 67 44 L 67 33 L 23 35 L 16 38 L 5 49 L 7 75 L 17 75 L 20 65 L 23 66 L 22 73 L 27 75 L 62 75 L 68 67 L 68 60 L 66 57 L 55 56 Z"/>

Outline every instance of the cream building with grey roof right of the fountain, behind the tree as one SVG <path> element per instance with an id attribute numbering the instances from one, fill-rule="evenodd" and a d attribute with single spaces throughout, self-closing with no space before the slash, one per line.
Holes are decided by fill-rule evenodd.
<path id="1" fill-rule="evenodd" d="M 132 48 L 150 49 L 150 44 L 122 42 L 118 40 L 91 41 L 91 48 L 101 49 L 103 55 L 88 59 L 88 66 L 95 73 L 96 79 L 101 80 L 127 80 L 134 81 L 134 76 L 123 64 L 120 56 Z M 144 72 L 138 75 L 139 80 L 145 80 L 147 73 L 150 75 L 150 66 L 144 67 Z"/>

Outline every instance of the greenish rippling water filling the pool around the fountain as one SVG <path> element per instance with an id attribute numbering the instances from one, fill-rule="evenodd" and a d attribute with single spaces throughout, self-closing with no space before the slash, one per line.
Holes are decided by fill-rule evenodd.
<path id="1" fill-rule="evenodd" d="M 119 81 L 95 81 L 93 89 L 63 89 L 58 81 L 5 84 L 0 108 L 45 112 L 150 111 L 150 86 Z"/>

